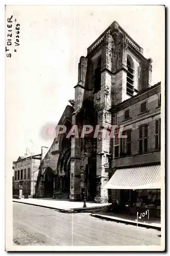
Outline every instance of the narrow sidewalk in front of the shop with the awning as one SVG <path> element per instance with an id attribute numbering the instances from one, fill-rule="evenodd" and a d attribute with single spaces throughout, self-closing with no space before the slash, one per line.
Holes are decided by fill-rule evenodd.
<path id="1" fill-rule="evenodd" d="M 113 214 L 113 212 L 98 212 L 98 214 L 91 214 L 91 216 L 100 218 L 103 220 L 122 222 L 122 223 L 137 226 L 137 222 L 135 221 L 136 216 Z M 141 219 L 140 221 L 138 221 L 138 226 L 161 230 L 161 222 L 159 219 L 156 219 L 156 218 L 150 218 L 147 221 L 142 221 L 142 219 Z"/>

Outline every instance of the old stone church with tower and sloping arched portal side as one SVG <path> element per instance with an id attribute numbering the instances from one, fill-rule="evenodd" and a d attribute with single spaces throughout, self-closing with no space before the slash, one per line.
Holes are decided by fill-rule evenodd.
<path id="1" fill-rule="evenodd" d="M 111 177 L 109 173 L 113 172 L 108 172 L 106 167 L 116 166 L 119 155 L 116 156 L 114 150 L 118 147 L 115 147 L 114 139 L 102 134 L 110 132 L 113 124 L 124 124 L 124 121 L 117 122 L 118 119 L 115 119 L 115 112 L 119 109 L 113 111 L 114 106 L 123 102 L 129 102 L 130 106 L 134 103 L 131 100 L 138 101 L 137 97 L 143 97 L 144 91 L 147 92 L 145 97 L 149 97 L 151 76 L 151 58 L 145 58 L 143 49 L 113 22 L 88 47 L 87 55 L 80 57 L 75 105 L 74 108 L 66 107 L 59 122 L 59 125 L 66 125 L 66 132 L 56 135 L 41 162 L 37 196 L 63 196 L 74 201 L 83 200 L 85 195 L 87 200 L 98 203 L 108 202 L 114 196 L 113 191 L 106 187 Z M 160 97 L 160 86 L 156 88 L 152 93 Z M 145 111 L 145 114 L 148 112 Z M 135 109 L 131 111 L 133 115 L 136 115 Z M 91 133 L 84 138 L 66 138 L 74 125 L 79 131 L 84 125 L 91 125 L 95 131 L 97 127 L 98 136 Z"/>

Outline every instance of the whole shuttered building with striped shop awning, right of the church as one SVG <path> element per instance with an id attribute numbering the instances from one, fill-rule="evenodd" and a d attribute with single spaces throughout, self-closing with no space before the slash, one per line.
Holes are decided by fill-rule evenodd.
<path id="1" fill-rule="evenodd" d="M 112 163 L 109 174 L 111 202 L 123 208 L 136 206 L 160 215 L 161 199 L 161 84 L 113 106 L 112 122 L 123 125 L 123 135 L 112 139 Z"/>

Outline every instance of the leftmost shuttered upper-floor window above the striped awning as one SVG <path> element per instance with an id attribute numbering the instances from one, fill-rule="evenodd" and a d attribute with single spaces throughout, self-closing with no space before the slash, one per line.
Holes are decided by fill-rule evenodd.
<path id="1" fill-rule="evenodd" d="M 120 138 L 120 157 L 131 155 L 131 129 L 123 131 L 123 136 L 127 138 Z"/>

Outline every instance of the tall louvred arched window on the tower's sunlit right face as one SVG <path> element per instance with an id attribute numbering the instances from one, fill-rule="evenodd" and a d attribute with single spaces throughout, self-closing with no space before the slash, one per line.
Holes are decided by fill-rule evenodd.
<path id="1" fill-rule="evenodd" d="M 127 57 L 127 83 L 126 83 L 126 93 L 133 96 L 134 92 L 134 65 L 132 59 Z"/>

